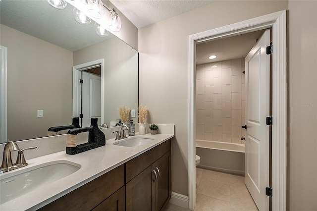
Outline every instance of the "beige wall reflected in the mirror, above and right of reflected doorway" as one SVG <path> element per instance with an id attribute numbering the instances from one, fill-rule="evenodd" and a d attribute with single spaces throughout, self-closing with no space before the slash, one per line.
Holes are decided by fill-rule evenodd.
<path id="1" fill-rule="evenodd" d="M 120 118 L 118 107 L 127 106 L 138 110 L 138 53 L 118 38 L 112 38 L 74 52 L 74 65 L 102 58 L 105 61 L 102 74 L 105 84 L 105 122 L 102 124 L 109 126 L 110 121 Z M 131 119 L 137 122 L 137 118 Z"/>

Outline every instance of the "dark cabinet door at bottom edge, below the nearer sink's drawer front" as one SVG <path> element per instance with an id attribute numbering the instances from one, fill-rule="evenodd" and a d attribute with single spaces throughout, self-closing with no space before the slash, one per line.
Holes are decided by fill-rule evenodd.
<path id="1" fill-rule="evenodd" d="M 120 188 L 114 194 L 109 196 L 105 201 L 98 205 L 93 211 L 124 211 L 125 197 L 124 187 Z"/>

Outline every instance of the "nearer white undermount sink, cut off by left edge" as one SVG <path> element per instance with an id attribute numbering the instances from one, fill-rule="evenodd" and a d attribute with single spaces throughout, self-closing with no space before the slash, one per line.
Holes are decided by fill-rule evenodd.
<path id="1" fill-rule="evenodd" d="M 40 167 L 39 167 L 40 166 Z M 76 163 L 44 163 L 31 170 L 0 180 L 0 203 L 3 204 L 41 186 L 66 177 L 80 169 Z M 12 171 L 13 172 L 13 171 Z M 1 176 L 1 177 L 4 177 Z M 1 178 L 0 177 L 0 178 Z"/>

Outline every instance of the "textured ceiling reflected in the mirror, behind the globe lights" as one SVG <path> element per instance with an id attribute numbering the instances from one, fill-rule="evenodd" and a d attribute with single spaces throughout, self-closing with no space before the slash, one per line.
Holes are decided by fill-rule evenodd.
<path id="1" fill-rule="evenodd" d="M 113 37 L 111 33 L 106 38 L 98 36 L 94 21 L 89 25 L 77 23 L 72 5 L 59 10 L 46 0 L 2 0 L 0 22 L 72 52 Z"/>

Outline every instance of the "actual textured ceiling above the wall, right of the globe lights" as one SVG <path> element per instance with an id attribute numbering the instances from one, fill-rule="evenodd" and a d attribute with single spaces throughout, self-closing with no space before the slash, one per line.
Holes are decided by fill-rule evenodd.
<path id="1" fill-rule="evenodd" d="M 110 0 L 137 28 L 190 11 L 213 0 Z"/>

